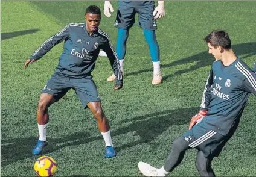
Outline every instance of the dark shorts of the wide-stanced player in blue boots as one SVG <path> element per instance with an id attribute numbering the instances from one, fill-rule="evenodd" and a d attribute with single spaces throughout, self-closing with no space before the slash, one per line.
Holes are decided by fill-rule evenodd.
<path id="1" fill-rule="evenodd" d="M 43 87 L 42 93 L 49 93 L 54 96 L 56 101 L 59 101 L 70 89 L 75 90 L 83 108 L 87 107 L 88 102 L 100 102 L 100 96 L 98 96 L 97 87 L 92 80 L 92 76 L 67 78 L 54 73 Z"/>

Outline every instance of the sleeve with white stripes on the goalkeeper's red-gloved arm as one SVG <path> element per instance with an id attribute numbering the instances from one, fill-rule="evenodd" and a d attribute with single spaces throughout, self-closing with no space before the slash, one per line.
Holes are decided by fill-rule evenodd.
<path id="1" fill-rule="evenodd" d="M 211 99 L 211 85 L 213 84 L 213 66 L 211 67 L 208 79 L 205 84 L 205 90 L 203 90 L 203 97 L 201 101 L 200 110 L 208 110 Z"/>

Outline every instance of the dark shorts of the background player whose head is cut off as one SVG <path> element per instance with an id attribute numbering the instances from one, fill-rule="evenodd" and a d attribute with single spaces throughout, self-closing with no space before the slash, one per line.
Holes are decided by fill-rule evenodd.
<path id="1" fill-rule="evenodd" d="M 143 30 L 156 30 L 156 19 L 154 19 L 153 16 L 154 8 L 155 5 L 146 6 L 144 8 L 118 5 L 115 27 L 125 30 L 131 28 L 135 24 L 135 14 L 138 13 L 139 27 Z"/>

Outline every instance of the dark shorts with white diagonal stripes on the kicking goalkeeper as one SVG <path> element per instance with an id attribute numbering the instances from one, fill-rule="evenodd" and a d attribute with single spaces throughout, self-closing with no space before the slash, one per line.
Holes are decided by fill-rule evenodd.
<path id="1" fill-rule="evenodd" d="M 224 136 L 207 128 L 203 121 L 194 125 L 182 135 L 188 142 L 188 146 L 202 151 L 205 157 L 217 157 L 231 136 Z"/>

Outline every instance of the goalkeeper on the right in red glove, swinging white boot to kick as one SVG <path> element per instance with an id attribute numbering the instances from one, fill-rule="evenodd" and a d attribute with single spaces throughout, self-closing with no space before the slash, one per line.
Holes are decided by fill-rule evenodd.
<path id="1" fill-rule="evenodd" d="M 168 175 L 190 148 L 198 151 L 196 167 L 200 176 L 215 176 L 211 168 L 213 158 L 237 129 L 250 93 L 256 95 L 256 74 L 236 57 L 228 33 L 214 30 L 205 37 L 205 42 L 216 61 L 206 81 L 200 111 L 191 119 L 189 130 L 173 141 L 164 166 L 157 169 L 138 163 L 145 176 Z"/>

